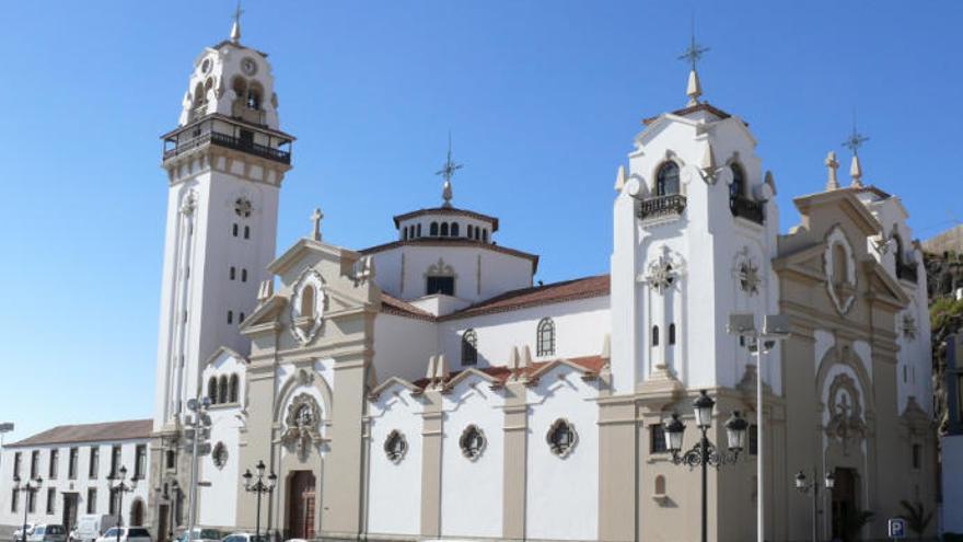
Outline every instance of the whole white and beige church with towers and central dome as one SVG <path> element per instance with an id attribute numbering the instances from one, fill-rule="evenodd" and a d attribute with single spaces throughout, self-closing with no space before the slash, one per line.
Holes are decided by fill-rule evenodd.
<path id="1" fill-rule="evenodd" d="M 497 244 L 511 224 L 454 204 L 451 155 L 441 200 L 398 209 L 395 239 L 339 246 L 315 212 L 276 255 L 294 140 L 277 107 L 268 57 L 235 21 L 194 59 L 164 136 L 159 540 L 188 520 L 185 423 L 204 397 L 204 527 L 254 530 L 242 475 L 263 461 L 277 483 L 259 524 L 285 538 L 695 540 L 699 476 L 673 463 L 665 424 L 680 415 L 689 448 L 705 390 L 722 446 L 730 413 L 755 419 L 759 374 L 764 431 L 710 470 L 709 540 L 755 538 L 761 450 L 767 540 L 809 540 L 800 470 L 836 478 L 825 539 L 883 538 L 902 499 L 935 506 L 921 253 L 857 157 L 842 186 L 831 153 L 780 233 L 755 135 L 703 101 L 693 67 L 685 106 L 645 119 L 614 164 L 610 273 L 535 285 L 532 249 Z M 789 319 L 761 371 L 732 313 Z M 861 510 L 875 516 L 848 532 Z"/>

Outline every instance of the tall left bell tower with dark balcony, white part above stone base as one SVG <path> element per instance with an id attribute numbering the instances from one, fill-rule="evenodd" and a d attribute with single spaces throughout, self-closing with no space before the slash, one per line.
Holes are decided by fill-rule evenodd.
<path id="1" fill-rule="evenodd" d="M 267 55 L 230 39 L 194 60 L 177 127 L 165 134 L 167 218 L 158 335 L 154 430 L 177 427 L 220 346 L 242 355 L 237 328 L 275 256 L 278 193 L 293 137 L 280 131 Z"/>

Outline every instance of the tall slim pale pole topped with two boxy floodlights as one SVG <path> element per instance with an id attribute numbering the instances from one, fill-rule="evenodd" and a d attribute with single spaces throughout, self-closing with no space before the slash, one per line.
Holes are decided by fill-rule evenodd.
<path id="1" fill-rule="evenodd" d="M 765 542 L 765 506 L 763 492 L 763 359 L 777 342 L 789 338 L 789 319 L 781 314 L 763 316 L 763 330 L 756 330 L 754 314 L 733 313 L 729 315 L 727 331 L 745 341 L 745 346 L 756 357 L 756 541 Z"/>

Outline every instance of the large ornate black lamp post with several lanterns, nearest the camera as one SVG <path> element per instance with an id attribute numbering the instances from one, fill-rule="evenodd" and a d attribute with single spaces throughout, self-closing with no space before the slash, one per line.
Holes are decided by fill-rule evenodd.
<path id="1" fill-rule="evenodd" d="M 718 469 L 723 464 L 734 463 L 739 458 L 739 452 L 745 449 L 745 434 L 749 428 L 749 422 L 745 420 L 739 411 L 734 411 L 726 422 L 726 436 L 729 443 L 729 450 L 720 450 L 707 436 L 709 428 L 712 427 L 712 410 L 716 402 L 706 394 L 706 390 L 699 392 L 699 396 L 693 401 L 693 410 L 696 415 L 696 426 L 701 431 L 699 441 L 687 452 L 682 452 L 683 435 L 685 434 L 685 424 L 678 419 L 678 414 L 672 415 L 672 420 L 665 426 L 665 434 L 669 437 L 669 451 L 672 452 L 672 462 L 683 464 L 689 470 L 699 466 L 703 477 L 703 542 L 708 541 L 708 489 L 707 489 L 707 468 L 709 465 Z"/>

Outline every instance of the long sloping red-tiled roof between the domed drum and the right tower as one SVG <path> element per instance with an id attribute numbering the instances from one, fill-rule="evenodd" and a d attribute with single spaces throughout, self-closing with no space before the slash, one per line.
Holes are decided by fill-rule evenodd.
<path id="1" fill-rule="evenodd" d="M 496 296 L 491 299 L 466 307 L 453 312 L 440 320 L 456 320 L 480 314 L 508 312 L 527 307 L 537 307 L 549 303 L 561 303 L 577 299 L 595 298 L 607 296 L 610 291 L 608 275 L 577 278 L 562 282 L 554 282 L 544 286 L 522 288 Z"/>

